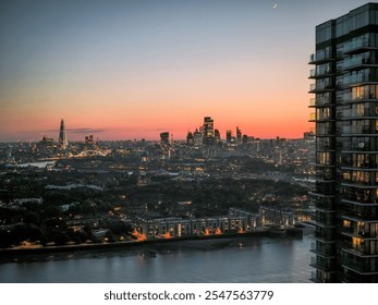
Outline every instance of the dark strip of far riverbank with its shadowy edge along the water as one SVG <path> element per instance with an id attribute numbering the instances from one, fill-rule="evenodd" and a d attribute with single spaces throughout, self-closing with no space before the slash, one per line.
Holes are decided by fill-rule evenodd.
<path id="1" fill-rule="evenodd" d="M 161 239 L 148 241 L 125 241 L 117 243 L 93 243 L 93 244 L 75 244 L 63 246 L 45 246 L 31 248 L 4 248 L 0 249 L 0 264 L 3 263 L 27 263 L 35 260 L 46 260 L 49 257 L 72 257 L 81 254 L 87 255 L 93 253 L 95 256 L 100 252 L 131 252 L 131 254 L 148 254 L 175 251 L 180 248 L 196 248 L 196 249 L 214 249 L 222 246 L 243 246 L 249 244 L 251 240 L 259 237 L 271 239 L 292 239 L 302 237 L 302 234 L 296 236 L 271 236 L 268 231 L 247 232 L 221 235 L 199 235 L 185 236 L 181 239 Z M 197 243 L 196 243 L 197 242 Z M 148 256 L 147 255 L 147 256 Z M 153 255 L 154 256 L 154 255 Z"/>

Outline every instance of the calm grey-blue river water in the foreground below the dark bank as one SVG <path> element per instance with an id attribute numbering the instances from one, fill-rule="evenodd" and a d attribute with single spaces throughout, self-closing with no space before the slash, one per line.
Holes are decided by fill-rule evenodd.
<path id="1" fill-rule="evenodd" d="M 302 283 L 310 282 L 310 243 L 303 239 L 241 237 L 163 246 L 34 257 L 0 264 L 8 283 Z"/>

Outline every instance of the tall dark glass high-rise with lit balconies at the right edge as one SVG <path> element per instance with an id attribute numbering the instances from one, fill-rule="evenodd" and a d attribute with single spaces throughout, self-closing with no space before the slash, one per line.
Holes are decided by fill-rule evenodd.
<path id="1" fill-rule="evenodd" d="M 316 282 L 378 282 L 378 3 L 316 26 Z"/>

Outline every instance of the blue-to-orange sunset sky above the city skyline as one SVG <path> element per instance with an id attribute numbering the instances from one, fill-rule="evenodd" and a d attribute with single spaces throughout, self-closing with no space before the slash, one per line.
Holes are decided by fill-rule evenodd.
<path id="1" fill-rule="evenodd" d="M 315 26 L 366 2 L 1 0 L 0 141 L 302 137 Z"/>

